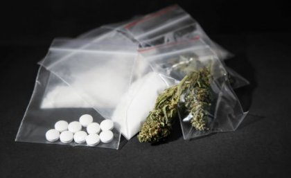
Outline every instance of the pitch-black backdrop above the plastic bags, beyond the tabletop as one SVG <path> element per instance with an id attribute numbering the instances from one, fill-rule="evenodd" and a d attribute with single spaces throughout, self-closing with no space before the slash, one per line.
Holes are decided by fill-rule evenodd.
<path id="1" fill-rule="evenodd" d="M 276 1 L 232 0 L 49 0 L 4 1 L 0 6 L 0 42 L 48 42 L 74 37 L 104 24 L 145 15 L 179 4 L 206 33 L 290 31 L 290 6 Z"/>

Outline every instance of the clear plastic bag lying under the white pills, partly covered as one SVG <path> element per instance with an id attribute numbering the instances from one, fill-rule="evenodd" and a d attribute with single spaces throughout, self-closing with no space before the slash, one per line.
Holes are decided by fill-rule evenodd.
<path id="1" fill-rule="evenodd" d="M 58 87 L 62 89 L 66 88 L 67 93 L 64 93 L 62 89 L 56 89 Z M 51 98 L 52 96 L 48 96 L 51 91 L 55 95 L 53 98 Z M 60 100 L 58 99 L 59 97 L 69 100 Z M 21 121 L 15 141 L 87 146 L 86 143 L 78 144 L 74 141 L 66 144 L 60 140 L 50 142 L 46 141 L 45 136 L 48 130 L 54 128 L 57 121 L 64 120 L 68 123 L 71 121 L 79 121 L 79 117 L 82 114 L 90 114 L 93 116 L 94 122 L 97 123 L 104 120 L 95 109 L 89 107 L 88 103 L 82 100 L 66 83 L 41 66 L 37 73 L 33 95 L 31 96 L 24 118 Z M 86 128 L 82 127 L 82 130 L 85 131 Z M 113 129 L 112 132 L 114 133 L 114 139 L 110 143 L 100 142 L 95 147 L 118 149 L 121 132 L 116 129 Z"/>

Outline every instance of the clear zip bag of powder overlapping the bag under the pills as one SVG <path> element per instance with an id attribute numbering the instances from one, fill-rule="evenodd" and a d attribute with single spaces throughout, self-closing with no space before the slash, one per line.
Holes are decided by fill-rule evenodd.
<path id="1" fill-rule="evenodd" d="M 136 45 L 55 39 L 40 63 L 69 84 L 102 116 L 110 118 L 130 85 Z"/>

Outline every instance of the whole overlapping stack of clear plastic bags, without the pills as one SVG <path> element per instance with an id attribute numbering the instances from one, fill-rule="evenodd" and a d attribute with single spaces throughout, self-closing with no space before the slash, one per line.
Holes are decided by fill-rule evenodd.
<path id="1" fill-rule="evenodd" d="M 91 114 L 98 123 L 114 121 L 113 141 L 96 147 L 118 149 L 121 135 L 129 140 L 139 132 L 159 94 L 187 75 L 181 67 L 199 70 L 209 64 L 209 129 L 195 130 L 189 114 L 179 112 L 184 139 L 236 130 L 246 113 L 233 89 L 248 82 L 225 66 L 230 56 L 179 6 L 101 26 L 75 39 L 55 39 L 39 62 L 16 141 L 65 144 L 46 141 L 46 131 L 56 121 Z"/>

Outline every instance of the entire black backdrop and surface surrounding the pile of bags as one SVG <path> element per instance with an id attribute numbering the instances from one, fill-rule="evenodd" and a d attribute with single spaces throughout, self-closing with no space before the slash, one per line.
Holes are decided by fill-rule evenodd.
<path id="1" fill-rule="evenodd" d="M 249 115 L 236 132 L 121 150 L 16 143 L 37 61 L 55 37 L 76 37 L 178 3 L 236 56 L 251 84 L 236 90 Z M 290 8 L 281 1 L 9 1 L 0 5 L 0 177 L 290 177 Z"/>

